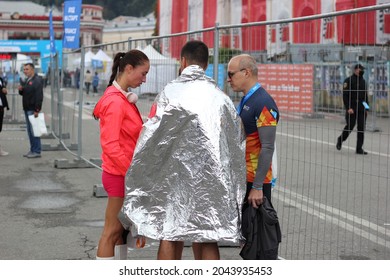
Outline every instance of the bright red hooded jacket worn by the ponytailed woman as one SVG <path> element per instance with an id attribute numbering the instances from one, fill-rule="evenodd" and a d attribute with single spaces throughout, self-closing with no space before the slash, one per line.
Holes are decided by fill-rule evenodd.
<path id="1" fill-rule="evenodd" d="M 100 120 L 103 170 L 125 176 L 143 124 L 137 106 L 110 86 L 96 104 L 93 114 Z"/>

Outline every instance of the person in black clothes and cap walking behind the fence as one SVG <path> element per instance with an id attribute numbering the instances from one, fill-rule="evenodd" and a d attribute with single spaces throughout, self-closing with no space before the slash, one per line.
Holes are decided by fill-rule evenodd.
<path id="1" fill-rule="evenodd" d="M 366 81 L 363 78 L 364 67 L 361 64 L 356 64 L 354 73 L 344 80 L 343 84 L 343 102 L 345 112 L 345 125 L 343 132 L 337 138 L 336 148 L 341 150 L 342 143 L 347 140 L 357 122 L 357 142 L 356 153 L 366 155 L 363 150 L 364 130 L 366 127 L 367 111 L 370 106 L 368 104 Z"/>

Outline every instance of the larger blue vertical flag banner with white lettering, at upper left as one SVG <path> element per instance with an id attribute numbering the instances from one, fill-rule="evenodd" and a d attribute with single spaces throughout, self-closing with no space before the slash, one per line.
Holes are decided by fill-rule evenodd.
<path id="1" fill-rule="evenodd" d="M 65 1 L 63 48 L 77 49 L 80 47 L 81 2 L 81 0 Z"/>

